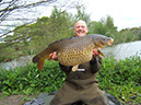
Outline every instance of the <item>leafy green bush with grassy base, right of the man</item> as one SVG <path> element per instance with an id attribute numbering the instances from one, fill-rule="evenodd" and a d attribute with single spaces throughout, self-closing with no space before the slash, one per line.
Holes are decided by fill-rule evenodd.
<path id="1" fill-rule="evenodd" d="M 117 61 L 114 58 L 105 58 L 97 79 L 99 88 L 124 102 L 141 104 L 141 59 L 137 57 Z M 134 105 L 134 104 L 133 104 Z"/>

